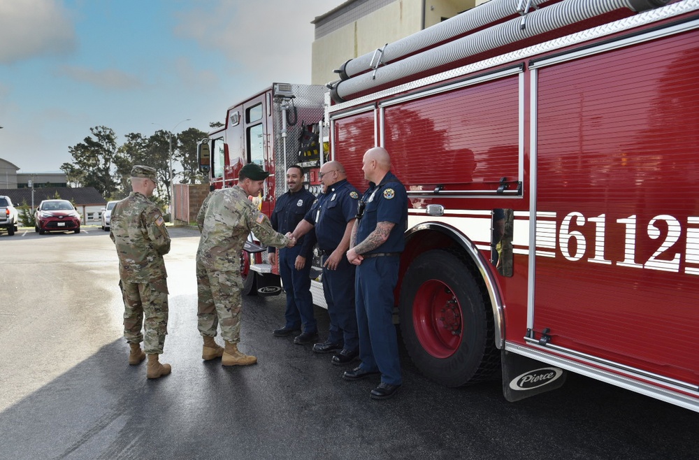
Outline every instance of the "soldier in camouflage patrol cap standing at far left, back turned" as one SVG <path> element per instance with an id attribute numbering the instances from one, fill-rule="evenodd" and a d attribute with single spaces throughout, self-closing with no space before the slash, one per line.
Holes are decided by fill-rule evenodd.
<path id="1" fill-rule="evenodd" d="M 168 333 L 168 285 L 163 255 L 170 252 L 170 236 L 157 206 L 148 199 L 156 186 L 153 168 L 134 166 L 134 191 L 114 207 L 110 237 L 119 257 L 119 287 L 124 298 L 124 338 L 131 346 L 129 364 L 140 364 L 148 355 L 147 378 L 171 372 L 160 364 Z M 144 321 L 145 317 L 145 321 Z M 145 334 L 141 333 L 141 327 Z M 140 350 L 143 342 L 145 353 Z"/>

